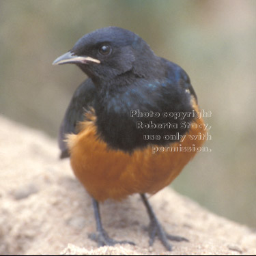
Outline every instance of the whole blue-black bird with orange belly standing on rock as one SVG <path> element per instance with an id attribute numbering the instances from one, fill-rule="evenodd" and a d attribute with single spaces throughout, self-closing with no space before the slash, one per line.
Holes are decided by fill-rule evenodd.
<path id="1" fill-rule="evenodd" d="M 150 246 L 156 238 L 167 251 L 169 240 L 188 242 L 165 231 L 147 196 L 171 184 L 197 153 L 193 148 L 203 145 L 203 139 L 189 139 L 205 130 L 188 74 L 121 27 L 85 34 L 53 61 L 66 63 L 87 76 L 68 105 L 58 142 L 60 158 L 70 157 L 92 199 L 96 233 L 89 238 L 98 246 L 134 244 L 109 237 L 99 203 L 139 194 L 150 218 Z"/>

